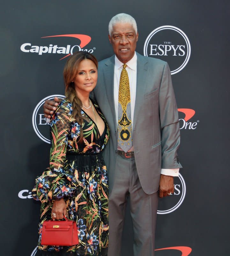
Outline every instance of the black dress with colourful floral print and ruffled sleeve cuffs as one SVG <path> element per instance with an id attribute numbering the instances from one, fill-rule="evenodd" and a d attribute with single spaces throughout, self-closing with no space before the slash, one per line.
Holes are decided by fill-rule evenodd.
<path id="1" fill-rule="evenodd" d="M 32 190 L 41 201 L 38 255 L 103 255 L 108 247 L 108 175 L 102 150 L 108 142 L 109 128 L 100 108 L 95 109 L 105 122 L 103 134 L 82 110 L 83 141 L 78 142 L 80 125 L 72 114 L 69 100 L 62 100 L 51 118 L 50 167 L 36 178 Z M 67 218 L 75 220 L 79 244 L 41 245 L 42 224 L 51 220 L 53 200 L 64 198 Z M 106 253 L 105 253 L 106 254 Z"/>

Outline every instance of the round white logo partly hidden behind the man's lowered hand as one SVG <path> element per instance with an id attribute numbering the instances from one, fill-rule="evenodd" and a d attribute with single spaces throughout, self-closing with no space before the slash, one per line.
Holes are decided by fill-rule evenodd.
<path id="1" fill-rule="evenodd" d="M 157 213 L 167 214 L 174 212 L 184 201 L 185 194 L 185 182 L 182 175 L 179 173 L 179 177 L 174 177 L 174 193 L 159 200 Z"/>

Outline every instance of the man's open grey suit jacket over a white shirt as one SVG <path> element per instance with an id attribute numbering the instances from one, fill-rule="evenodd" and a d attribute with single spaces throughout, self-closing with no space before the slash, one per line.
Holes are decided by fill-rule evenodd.
<path id="1" fill-rule="evenodd" d="M 98 82 L 93 90 L 110 128 L 110 139 L 104 152 L 110 191 L 117 158 L 114 58 L 113 55 L 99 62 Z M 133 145 L 137 172 L 145 193 L 152 194 L 159 189 L 161 168 L 182 167 L 177 157 L 179 144 L 178 111 L 168 64 L 137 53 Z"/>

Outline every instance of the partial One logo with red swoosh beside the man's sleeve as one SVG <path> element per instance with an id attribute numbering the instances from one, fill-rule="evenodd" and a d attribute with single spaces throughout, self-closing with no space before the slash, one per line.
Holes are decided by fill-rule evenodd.
<path id="1" fill-rule="evenodd" d="M 188 122 L 189 119 L 191 119 L 195 115 L 195 110 L 191 108 L 178 108 L 178 112 L 184 114 L 184 117 L 179 119 L 180 130 L 195 130 L 197 128 L 197 124 L 200 122 L 199 120 L 197 120 L 196 122 Z"/>

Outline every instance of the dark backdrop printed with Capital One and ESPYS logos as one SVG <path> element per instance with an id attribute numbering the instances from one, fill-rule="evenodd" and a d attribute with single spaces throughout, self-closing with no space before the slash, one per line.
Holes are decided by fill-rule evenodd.
<path id="1" fill-rule="evenodd" d="M 120 12 L 136 19 L 137 52 L 141 54 L 147 37 L 161 26 L 182 30 L 190 42 L 187 65 L 172 75 L 180 110 L 179 157 L 183 169 L 175 179 L 175 194 L 159 203 L 156 249 L 164 250 L 156 251 L 156 256 L 176 256 L 182 251 L 187 251 L 183 256 L 229 254 L 229 7 L 229 1 L 223 0 L 1 3 L 1 255 L 36 255 L 40 204 L 31 199 L 30 190 L 35 177 L 48 166 L 49 155 L 49 144 L 38 136 L 40 132 L 48 138 L 49 129 L 38 104 L 50 95 L 64 93 L 66 60 L 59 60 L 66 54 L 45 51 L 50 44 L 72 47 L 82 43 L 60 35 L 84 34 L 91 41 L 82 46 L 83 50 L 93 50 L 98 60 L 111 56 L 108 22 Z M 185 55 L 180 52 L 183 56 L 178 52 L 174 56 L 173 50 L 153 56 L 167 60 L 170 67 L 179 67 L 189 51 L 178 29 L 161 30 L 150 42 L 152 49 L 159 44 L 164 50 L 185 45 Z M 59 37 L 41 38 L 54 35 Z M 27 52 L 23 52 L 20 48 L 26 43 Z M 44 53 L 28 52 L 36 50 L 32 46 Z M 75 46 L 74 51 L 77 49 Z M 35 110 L 37 133 L 32 123 Z M 123 256 L 132 255 L 131 241 L 127 211 Z"/>

